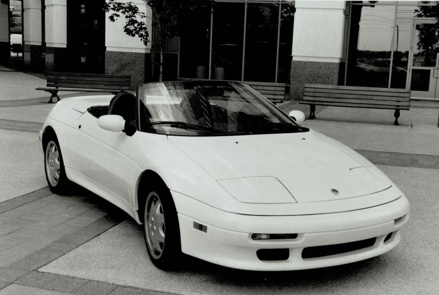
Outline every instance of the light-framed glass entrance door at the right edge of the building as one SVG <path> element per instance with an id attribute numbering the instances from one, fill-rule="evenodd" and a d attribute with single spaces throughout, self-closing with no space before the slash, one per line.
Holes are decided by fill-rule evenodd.
<path id="1" fill-rule="evenodd" d="M 439 99 L 438 35 L 435 20 L 414 20 L 409 77 L 412 97 Z"/>

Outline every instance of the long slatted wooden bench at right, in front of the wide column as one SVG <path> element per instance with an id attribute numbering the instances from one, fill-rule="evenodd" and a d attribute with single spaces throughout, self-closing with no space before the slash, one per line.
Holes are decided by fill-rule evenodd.
<path id="1" fill-rule="evenodd" d="M 299 104 L 311 106 L 308 119 L 315 118 L 316 105 L 394 109 L 399 125 L 400 110 L 410 109 L 410 89 L 305 84 Z"/>

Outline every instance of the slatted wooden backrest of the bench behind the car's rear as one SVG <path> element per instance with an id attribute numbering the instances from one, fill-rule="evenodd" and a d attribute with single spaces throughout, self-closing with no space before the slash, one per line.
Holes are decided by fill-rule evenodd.
<path id="1" fill-rule="evenodd" d="M 129 90 L 130 75 L 47 73 L 47 87 Z"/>

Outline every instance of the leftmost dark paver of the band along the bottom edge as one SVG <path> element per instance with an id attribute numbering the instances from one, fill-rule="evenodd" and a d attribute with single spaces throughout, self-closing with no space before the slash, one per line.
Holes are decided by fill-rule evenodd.
<path id="1" fill-rule="evenodd" d="M 33 271 L 16 281 L 17 284 L 25 286 L 66 293 L 73 293 L 75 289 L 78 289 L 86 282 L 87 280 L 82 278 L 72 278 L 38 271 Z"/>

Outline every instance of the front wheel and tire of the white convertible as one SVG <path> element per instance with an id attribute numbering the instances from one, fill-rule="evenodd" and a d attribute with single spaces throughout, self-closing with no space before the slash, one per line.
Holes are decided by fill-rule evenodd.
<path id="1" fill-rule="evenodd" d="M 157 268 L 175 269 L 182 253 L 180 228 L 172 196 L 165 185 L 148 192 L 144 217 L 149 258 Z"/>

